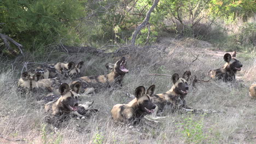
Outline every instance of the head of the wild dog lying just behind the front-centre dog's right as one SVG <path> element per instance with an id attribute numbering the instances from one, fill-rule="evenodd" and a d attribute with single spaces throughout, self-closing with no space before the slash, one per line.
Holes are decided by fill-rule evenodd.
<path id="1" fill-rule="evenodd" d="M 172 82 L 174 86 L 174 92 L 181 95 L 187 95 L 188 94 L 188 80 L 190 79 L 191 72 L 189 70 L 185 71 L 182 78 L 179 77 L 178 74 L 172 75 Z"/>

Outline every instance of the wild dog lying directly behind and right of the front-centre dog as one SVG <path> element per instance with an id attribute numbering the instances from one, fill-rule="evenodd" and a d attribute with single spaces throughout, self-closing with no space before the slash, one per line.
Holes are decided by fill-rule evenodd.
<path id="1" fill-rule="evenodd" d="M 158 111 L 162 111 L 167 104 L 171 105 L 172 110 L 176 110 L 179 107 L 188 107 L 185 103 L 185 97 L 189 90 L 188 80 L 190 79 L 190 76 L 191 72 L 189 70 L 185 71 L 182 78 L 180 78 L 178 74 L 173 74 L 172 88 L 165 93 L 152 95 L 152 102 L 156 104 L 153 117 L 156 117 Z"/>

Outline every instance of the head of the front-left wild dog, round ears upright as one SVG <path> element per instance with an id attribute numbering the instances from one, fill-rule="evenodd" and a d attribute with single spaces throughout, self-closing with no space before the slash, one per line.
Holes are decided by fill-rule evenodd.
<path id="1" fill-rule="evenodd" d="M 67 83 L 63 83 L 59 87 L 61 105 L 66 107 L 69 111 L 76 111 L 78 109 L 78 93 L 80 89 L 80 82 L 74 83 L 71 87 L 69 87 Z"/>

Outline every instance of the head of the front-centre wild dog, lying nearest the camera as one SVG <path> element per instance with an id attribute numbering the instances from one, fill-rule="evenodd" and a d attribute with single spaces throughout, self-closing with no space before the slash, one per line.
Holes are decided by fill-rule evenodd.
<path id="1" fill-rule="evenodd" d="M 135 89 L 135 97 L 137 98 L 137 104 L 139 110 L 147 113 L 152 113 L 156 107 L 152 103 L 152 95 L 155 91 L 155 85 L 152 85 L 148 88 L 147 92 L 143 86 L 139 86 Z"/>

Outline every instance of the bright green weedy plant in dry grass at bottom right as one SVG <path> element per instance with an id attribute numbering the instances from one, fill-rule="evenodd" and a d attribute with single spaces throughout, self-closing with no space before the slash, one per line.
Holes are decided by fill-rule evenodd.
<path id="1" fill-rule="evenodd" d="M 183 123 L 179 123 L 181 132 L 184 134 L 186 143 L 202 143 L 207 139 L 207 134 L 203 132 L 203 119 L 194 119 L 193 115 L 184 118 Z"/>

